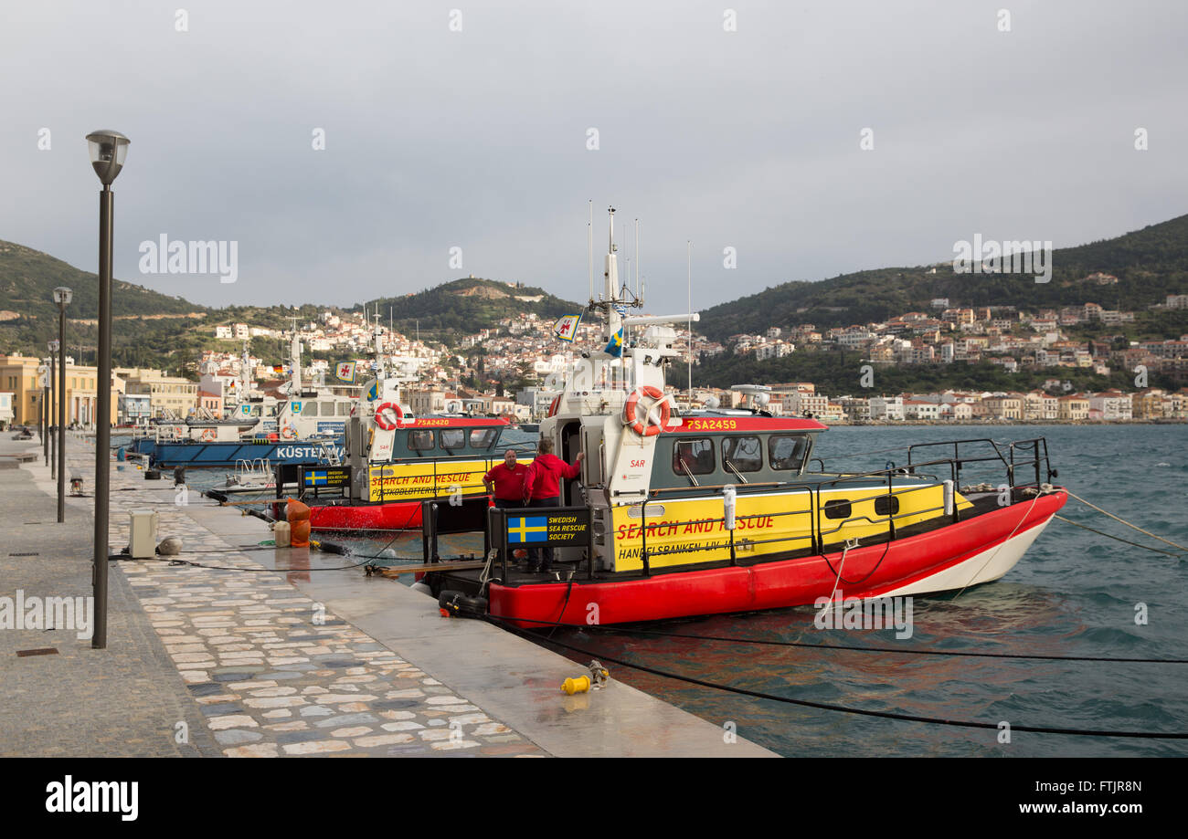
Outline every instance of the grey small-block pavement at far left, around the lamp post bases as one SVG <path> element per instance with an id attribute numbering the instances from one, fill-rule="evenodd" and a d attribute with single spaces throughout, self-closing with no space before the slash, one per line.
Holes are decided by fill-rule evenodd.
<path id="1" fill-rule="evenodd" d="M 0 451 L 23 450 L 7 434 Z M 70 438 L 69 468 L 87 469 L 93 451 Z M 89 471 L 94 464 L 89 464 Z M 91 593 L 93 500 L 70 500 L 57 522 L 56 496 L 40 460 L 0 470 L 0 597 Z M 51 490 L 52 491 L 52 490 Z M 217 756 L 173 662 L 124 574 L 109 579 L 108 648 L 69 629 L 0 631 L 0 756 Z M 18 657 L 18 650 L 55 649 Z M 179 726 L 178 724 L 184 724 Z M 187 736 L 182 732 L 187 731 Z"/>

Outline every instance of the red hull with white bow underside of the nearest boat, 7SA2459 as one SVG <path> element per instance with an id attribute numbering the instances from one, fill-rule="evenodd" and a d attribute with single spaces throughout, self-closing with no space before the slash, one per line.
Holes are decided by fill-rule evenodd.
<path id="1" fill-rule="evenodd" d="M 841 552 L 760 562 L 750 567 L 661 573 L 621 581 L 489 586 L 493 616 L 524 628 L 584 624 L 589 604 L 599 623 L 663 621 L 693 615 L 783 609 L 817 598 L 871 598 L 947 591 L 1001 577 L 1064 506 L 1057 490 L 967 521 L 851 549 L 838 581 Z M 533 623 L 541 622 L 541 623 Z"/>

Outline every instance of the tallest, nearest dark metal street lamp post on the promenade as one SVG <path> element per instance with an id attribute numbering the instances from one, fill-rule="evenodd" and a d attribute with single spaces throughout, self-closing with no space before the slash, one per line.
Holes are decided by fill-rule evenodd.
<path id="1" fill-rule="evenodd" d="M 112 247 L 115 195 L 112 182 L 124 169 L 128 138 L 114 131 L 87 135 L 90 165 L 103 184 L 99 193 L 99 407 L 95 417 L 95 625 L 94 649 L 107 648 L 107 508 L 112 481 Z"/>

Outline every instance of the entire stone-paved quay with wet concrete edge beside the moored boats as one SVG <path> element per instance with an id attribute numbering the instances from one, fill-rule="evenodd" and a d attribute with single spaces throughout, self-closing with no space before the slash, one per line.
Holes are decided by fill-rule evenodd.
<path id="1" fill-rule="evenodd" d="M 10 437 L 0 459 L 38 458 L 0 470 L 0 597 L 89 595 L 93 498 L 68 498 L 58 525 L 39 440 Z M 67 445 L 88 494 L 91 445 Z M 195 565 L 109 562 L 106 650 L 75 631 L 0 631 L 0 756 L 773 756 L 613 672 L 567 697 L 573 661 L 444 618 L 431 598 L 343 567 L 350 557 L 261 546 L 259 519 L 113 462 L 112 554 L 132 509 L 156 510 L 158 540 L 179 536 Z"/>

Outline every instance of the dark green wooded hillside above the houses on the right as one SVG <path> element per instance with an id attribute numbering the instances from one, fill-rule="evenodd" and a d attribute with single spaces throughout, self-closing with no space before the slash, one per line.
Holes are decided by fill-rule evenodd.
<path id="1" fill-rule="evenodd" d="M 958 274 L 952 263 L 878 268 L 820 282 L 785 282 L 701 313 L 701 330 L 715 341 L 769 326 L 811 323 L 820 329 L 885 320 L 929 311 L 930 300 L 954 306 L 1013 305 L 1024 310 L 1098 303 L 1140 311 L 1168 294 L 1188 292 L 1188 216 L 1152 224 L 1117 239 L 1053 252 L 1050 282 L 1030 274 Z M 935 267 L 936 273 L 929 273 Z M 1086 278 L 1102 272 L 1116 285 Z"/>

